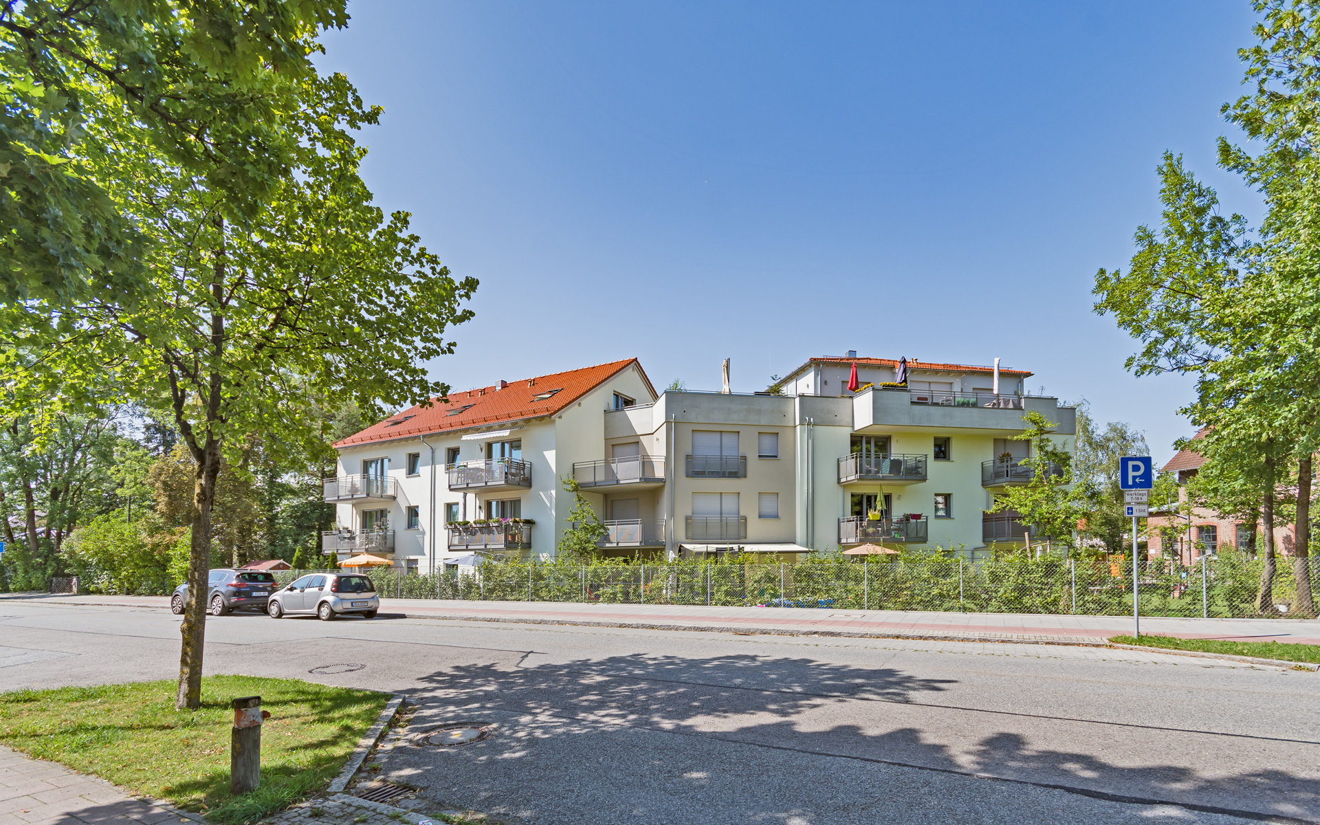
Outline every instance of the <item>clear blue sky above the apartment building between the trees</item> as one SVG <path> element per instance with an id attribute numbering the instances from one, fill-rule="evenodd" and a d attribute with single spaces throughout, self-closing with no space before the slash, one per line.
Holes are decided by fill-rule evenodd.
<path id="1" fill-rule="evenodd" d="M 364 176 L 477 318 L 457 389 L 638 356 L 663 387 L 763 389 L 812 355 L 1032 370 L 1147 433 L 1183 378 L 1134 379 L 1092 313 L 1158 220 L 1164 149 L 1214 168 L 1245 0 L 352 3 L 326 70 L 384 107 Z"/>

